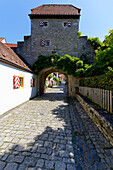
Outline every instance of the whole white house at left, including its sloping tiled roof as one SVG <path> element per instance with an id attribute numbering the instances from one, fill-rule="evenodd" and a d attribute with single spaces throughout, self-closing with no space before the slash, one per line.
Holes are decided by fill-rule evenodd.
<path id="1" fill-rule="evenodd" d="M 37 75 L 9 47 L 0 43 L 0 115 L 36 95 Z"/>

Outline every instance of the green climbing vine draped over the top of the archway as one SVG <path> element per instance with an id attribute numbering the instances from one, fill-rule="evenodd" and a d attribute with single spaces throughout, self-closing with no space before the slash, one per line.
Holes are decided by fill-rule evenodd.
<path id="1" fill-rule="evenodd" d="M 35 73 L 38 73 L 43 68 L 55 67 L 56 69 L 63 70 L 68 75 L 80 75 L 84 67 L 84 63 L 77 57 L 65 55 L 60 57 L 58 54 L 55 56 L 42 56 L 34 63 L 33 68 Z M 81 70 L 78 70 L 81 69 Z M 78 70 L 78 72 L 76 72 Z"/>

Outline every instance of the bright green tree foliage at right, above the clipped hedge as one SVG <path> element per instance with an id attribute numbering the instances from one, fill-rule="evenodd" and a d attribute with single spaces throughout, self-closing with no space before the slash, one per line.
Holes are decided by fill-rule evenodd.
<path id="1" fill-rule="evenodd" d="M 97 76 L 113 71 L 113 30 L 109 31 L 109 35 L 105 36 L 104 43 L 100 42 L 96 37 L 90 38 L 94 45 L 96 57 L 95 63 L 85 70 L 85 76 Z"/>

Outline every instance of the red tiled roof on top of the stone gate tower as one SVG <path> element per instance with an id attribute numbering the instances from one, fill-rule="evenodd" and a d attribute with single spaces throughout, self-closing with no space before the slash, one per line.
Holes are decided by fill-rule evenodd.
<path id="1" fill-rule="evenodd" d="M 73 5 L 42 5 L 31 9 L 31 15 L 80 15 L 80 11 Z"/>

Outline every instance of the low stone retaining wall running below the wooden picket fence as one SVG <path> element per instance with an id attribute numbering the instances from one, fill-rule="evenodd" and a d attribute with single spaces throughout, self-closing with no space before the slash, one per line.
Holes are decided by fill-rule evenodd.
<path id="1" fill-rule="evenodd" d="M 75 97 L 80 102 L 90 118 L 93 120 L 93 122 L 97 125 L 99 130 L 103 133 L 111 145 L 113 145 L 113 127 L 111 124 L 103 116 L 101 116 L 98 111 L 92 108 L 91 105 L 86 103 L 84 99 L 78 94 L 76 94 Z"/>

